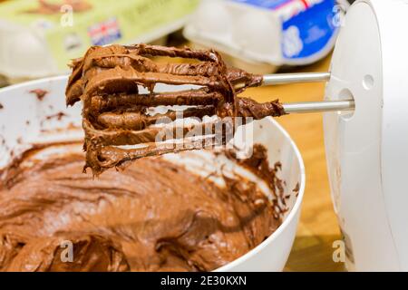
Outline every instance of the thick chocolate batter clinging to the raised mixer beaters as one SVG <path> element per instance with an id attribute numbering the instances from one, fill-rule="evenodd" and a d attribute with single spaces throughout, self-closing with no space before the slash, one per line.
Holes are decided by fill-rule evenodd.
<path id="1" fill-rule="evenodd" d="M 155 56 L 182 58 L 183 62 L 158 63 L 151 58 Z M 124 162 L 177 151 L 160 149 L 155 144 L 156 137 L 164 130 L 151 128 L 163 117 L 174 121 L 177 118 L 176 111 L 170 109 L 165 114 L 152 117 L 147 113 L 151 107 L 193 106 L 184 111 L 183 118 L 195 117 L 199 121 L 203 121 L 205 116 L 217 115 L 219 119 L 210 122 L 206 128 L 216 128 L 226 117 L 262 119 L 285 113 L 277 101 L 260 104 L 247 98 L 238 98 L 237 93 L 261 84 L 263 78 L 228 68 L 214 50 L 199 51 L 147 44 L 92 46 L 83 58 L 73 61 L 72 68 L 73 73 L 65 92 L 66 103 L 73 105 L 83 101 L 85 169 L 90 167 L 94 175 L 121 166 Z M 191 84 L 199 88 L 158 93 L 154 92 L 157 83 Z M 138 86 L 150 92 L 141 94 Z M 182 136 L 178 137 L 180 140 L 193 131 L 204 134 L 202 126 L 174 126 L 172 131 L 181 131 Z M 208 133 L 207 130 L 205 132 Z M 224 135 L 228 134 L 225 132 Z M 223 138 L 218 142 L 220 144 L 214 142 L 214 145 L 225 144 L 228 140 Z M 144 145 L 143 149 L 119 148 L 139 144 Z M 189 149 L 202 147 L 203 144 L 197 141 L 186 146 Z"/>

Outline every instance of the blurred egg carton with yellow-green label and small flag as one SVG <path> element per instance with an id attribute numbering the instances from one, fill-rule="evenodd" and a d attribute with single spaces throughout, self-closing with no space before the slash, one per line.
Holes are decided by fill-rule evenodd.
<path id="1" fill-rule="evenodd" d="M 0 3 L 0 74 L 67 73 L 91 45 L 151 43 L 180 29 L 199 0 L 14 0 Z"/>

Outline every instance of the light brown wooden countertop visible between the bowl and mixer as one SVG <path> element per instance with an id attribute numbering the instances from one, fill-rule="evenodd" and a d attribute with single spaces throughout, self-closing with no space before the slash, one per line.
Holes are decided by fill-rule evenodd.
<path id="1" fill-rule="evenodd" d="M 327 72 L 330 58 L 296 70 Z M 296 83 L 249 89 L 244 93 L 258 102 L 321 101 L 324 83 Z M 306 192 L 295 245 L 287 262 L 287 271 L 344 271 L 342 263 L 332 259 L 335 240 L 340 239 L 325 163 L 325 144 L 321 113 L 288 115 L 277 121 L 289 132 L 299 148 L 306 167 Z"/>

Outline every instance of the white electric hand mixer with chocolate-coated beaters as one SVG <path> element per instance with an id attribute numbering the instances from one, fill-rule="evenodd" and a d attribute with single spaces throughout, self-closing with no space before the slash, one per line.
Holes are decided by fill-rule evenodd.
<path id="1" fill-rule="evenodd" d="M 101 166 L 116 166 L 123 160 L 174 151 L 156 150 L 151 136 L 160 129 L 149 127 L 159 117 L 174 121 L 177 111 L 152 117 L 145 114 L 146 106 L 193 106 L 184 111 L 184 117 L 198 117 L 201 122 L 211 114 L 246 116 L 261 111 L 255 117 L 263 118 L 337 111 L 325 113 L 325 145 L 335 211 L 345 237 L 346 265 L 356 270 L 408 270 L 408 194 L 404 189 L 408 135 L 403 134 L 408 129 L 403 110 L 408 102 L 404 95 L 408 92 L 408 65 L 404 65 L 408 41 L 403 37 L 408 25 L 402 26 L 406 14 L 408 1 L 356 1 L 335 45 L 331 73 L 251 76 L 228 70 L 215 52 L 149 45 L 126 46 L 126 53 L 73 63 L 67 102 L 80 98 L 84 102 L 85 149 L 87 154 L 97 154 L 89 159 L 95 163 L 88 166 L 102 170 Z M 199 63 L 162 65 L 146 55 L 192 58 Z M 325 81 L 325 102 L 258 104 L 235 96 L 253 85 Z M 200 87 L 156 94 L 156 82 Z M 140 94 L 136 84 L 151 92 Z M 182 138 L 201 122 L 181 128 Z M 120 148 L 124 145 L 143 146 Z M 191 143 L 189 149 L 195 146 Z"/>

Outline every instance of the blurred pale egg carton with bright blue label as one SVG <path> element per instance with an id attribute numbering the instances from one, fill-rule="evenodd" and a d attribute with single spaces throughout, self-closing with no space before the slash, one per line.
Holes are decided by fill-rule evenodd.
<path id="1" fill-rule="evenodd" d="M 184 34 L 252 63 L 303 65 L 331 51 L 345 8 L 335 0 L 203 0 Z"/>

